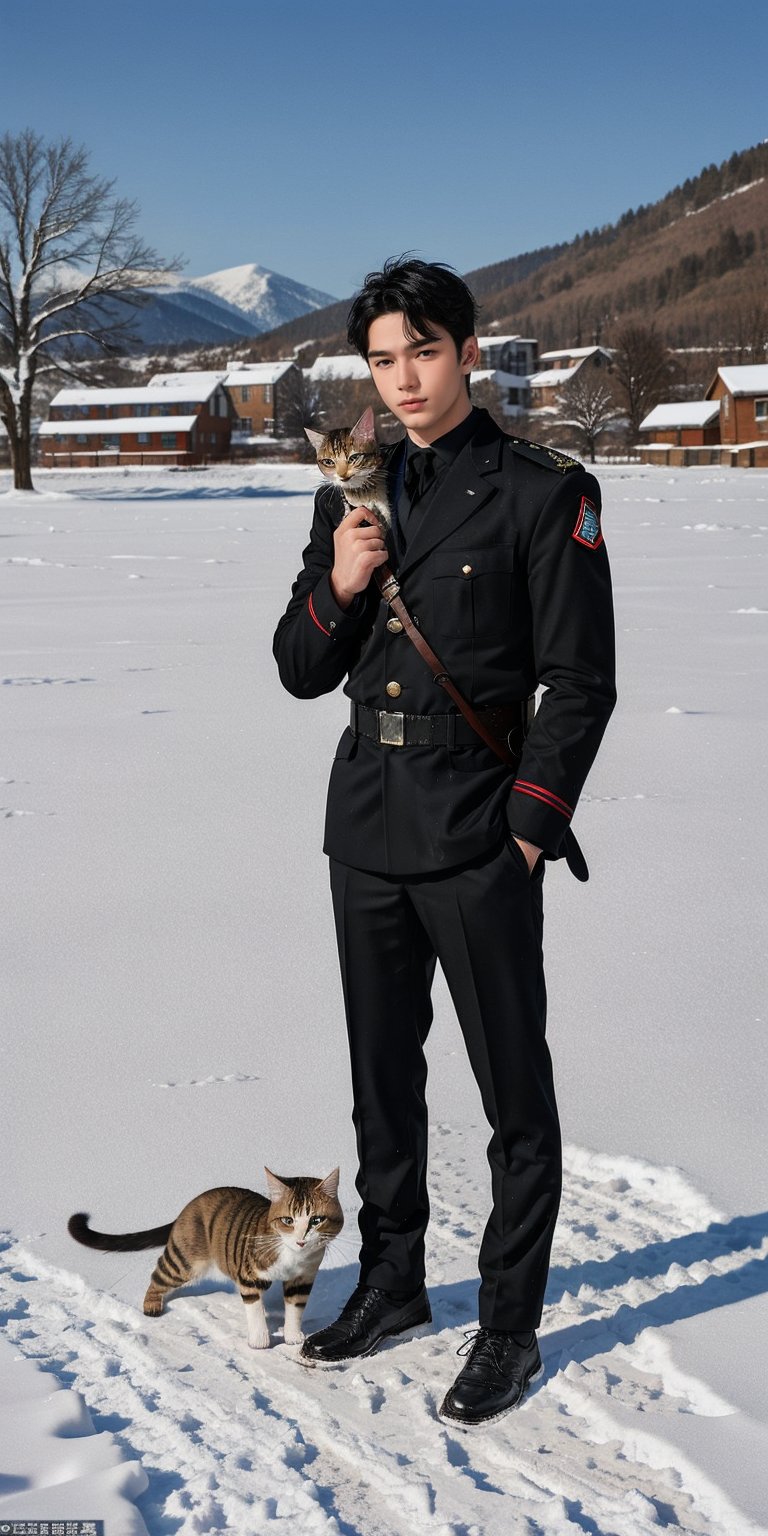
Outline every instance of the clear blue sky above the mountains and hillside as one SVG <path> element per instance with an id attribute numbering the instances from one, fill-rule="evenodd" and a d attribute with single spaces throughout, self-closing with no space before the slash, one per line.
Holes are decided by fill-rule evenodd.
<path id="1" fill-rule="evenodd" d="M 89 146 L 186 273 L 338 296 L 570 240 L 768 137 L 768 3 L 0 0 L 0 131 Z"/>

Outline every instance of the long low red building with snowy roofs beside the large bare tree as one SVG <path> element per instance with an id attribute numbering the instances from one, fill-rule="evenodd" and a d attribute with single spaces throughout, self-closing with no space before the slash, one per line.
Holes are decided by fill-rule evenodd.
<path id="1" fill-rule="evenodd" d="M 229 455 L 230 430 L 218 375 L 177 373 L 172 384 L 131 389 L 63 389 L 40 427 L 40 464 L 207 464 Z"/>

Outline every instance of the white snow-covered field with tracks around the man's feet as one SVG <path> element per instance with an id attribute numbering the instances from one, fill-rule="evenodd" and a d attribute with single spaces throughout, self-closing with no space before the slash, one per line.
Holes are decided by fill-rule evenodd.
<path id="1" fill-rule="evenodd" d="M 0 1531 L 768 1528 L 768 475 L 599 473 L 621 702 L 574 823 L 591 880 L 545 880 L 567 1143 L 545 1373 L 473 1433 L 436 1407 L 476 1326 L 490 1132 L 439 978 L 419 1338 L 309 1372 L 278 1301 L 263 1352 L 215 1276 L 147 1319 L 155 1255 L 66 1232 L 339 1163 L 309 1327 L 355 1281 L 321 852 L 346 700 L 290 699 L 270 653 L 316 473 L 0 478 Z"/>

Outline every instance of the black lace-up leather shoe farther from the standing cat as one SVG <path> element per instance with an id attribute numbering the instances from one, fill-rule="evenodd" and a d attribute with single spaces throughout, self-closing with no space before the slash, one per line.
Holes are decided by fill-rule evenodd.
<path id="1" fill-rule="evenodd" d="M 459 1355 L 468 1359 L 439 1407 L 447 1424 L 490 1424 L 522 1401 L 525 1389 L 542 1373 L 536 1333 L 478 1329 L 467 1335 Z"/>

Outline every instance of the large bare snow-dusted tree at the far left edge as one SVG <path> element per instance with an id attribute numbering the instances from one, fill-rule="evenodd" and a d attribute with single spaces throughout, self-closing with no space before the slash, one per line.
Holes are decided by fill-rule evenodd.
<path id="1" fill-rule="evenodd" d="M 32 490 L 37 375 L 77 378 L 88 343 L 124 347 L 141 290 L 180 264 L 138 238 L 135 203 L 88 163 L 69 138 L 48 144 L 31 129 L 0 138 L 0 418 L 18 490 Z"/>

